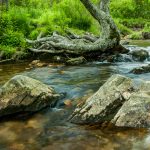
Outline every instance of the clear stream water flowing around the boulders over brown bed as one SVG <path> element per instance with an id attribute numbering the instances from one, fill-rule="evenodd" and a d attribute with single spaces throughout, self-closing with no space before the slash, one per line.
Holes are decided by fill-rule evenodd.
<path id="1" fill-rule="evenodd" d="M 136 46 L 135 46 L 136 45 Z M 138 45 L 138 46 L 137 46 Z M 150 41 L 134 41 L 130 50 L 150 52 Z M 124 55 L 123 57 L 126 57 Z M 52 64 L 49 67 L 25 70 L 27 63 L 0 65 L 0 86 L 16 74 L 23 74 L 51 85 L 66 93 L 56 108 L 21 119 L 0 122 L 0 150 L 148 150 L 149 129 L 88 127 L 69 123 L 72 107 L 63 107 L 62 101 L 81 101 L 91 96 L 112 75 L 123 74 L 136 81 L 150 80 L 150 73 L 128 73 L 145 62 L 92 62 L 80 66 Z M 132 117 L 132 116 L 131 116 Z"/>

